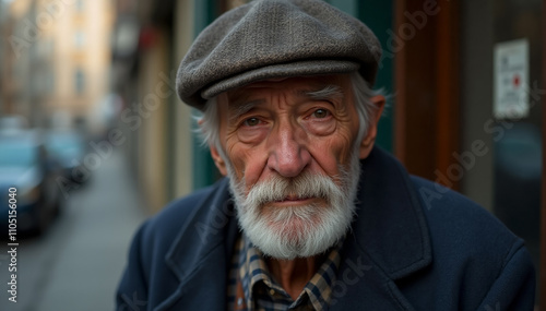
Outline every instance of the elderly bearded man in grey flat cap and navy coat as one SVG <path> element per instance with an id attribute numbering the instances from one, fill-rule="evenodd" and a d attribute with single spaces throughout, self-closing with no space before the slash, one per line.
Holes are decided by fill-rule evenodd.
<path id="1" fill-rule="evenodd" d="M 532 310 L 523 242 L 373 146 L 380 45 L 320 0 L 257 0 L 182 60 L 227 178 L 136 234 L 119 310 Z M 135 309 L 138 308 L 138 309 Z"/>

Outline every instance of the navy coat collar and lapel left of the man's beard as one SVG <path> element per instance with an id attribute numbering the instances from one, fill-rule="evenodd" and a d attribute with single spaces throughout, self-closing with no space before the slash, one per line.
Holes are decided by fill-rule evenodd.
<path id="1" fill-rule="evenodd" d="M 165 261 L 180 280 L 176 291 L 154 310 L 225 310 L 227 274 L 238 229 L 228 181 L 195 208 Z"/>

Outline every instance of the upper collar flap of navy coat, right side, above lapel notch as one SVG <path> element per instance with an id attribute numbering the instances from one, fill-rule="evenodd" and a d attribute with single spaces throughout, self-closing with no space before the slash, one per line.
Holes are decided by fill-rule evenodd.
<path id="1" fill-rule="evenodd" d="M 414 188 L 402 165 L 380 148 L 363 164 L 355 244 L 392 279 L 432 260 L 424 208 Z"/>

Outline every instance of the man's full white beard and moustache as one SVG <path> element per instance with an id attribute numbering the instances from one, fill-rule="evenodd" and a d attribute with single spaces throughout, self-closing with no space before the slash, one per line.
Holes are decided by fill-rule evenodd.
<path id="1" fill-rule="evenodd" d="M 227 166 L 239 226 L 265 255 L 280 260 L 318 255 L 339 242 L 351 228 L 360 174 L 357 152 L 351 156 L 348 168 L 340 167 L 337 177 L 307 170 L 295 178 L 275 175 L 253 186 L 248 195 L 245 195 L 245 181 L 237 181 L 229 162 Z M 334 178 L 339 178 L 341 184 L 336 184 Z M 320 198 L 325 204 L 266 206 L 288 195 Z"/>

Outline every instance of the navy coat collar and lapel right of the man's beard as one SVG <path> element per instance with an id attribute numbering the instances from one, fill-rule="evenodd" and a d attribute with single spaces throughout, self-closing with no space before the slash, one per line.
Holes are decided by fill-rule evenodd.
<path id="1" fill-rule="evenodd" d="M 359 187 L 358 216 L 343 247 L 331 310 L 413 310 L 395 280 L 432 260 L 414 186 L 400 163 L 375 148 L 363 162 Z"/>

